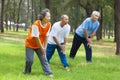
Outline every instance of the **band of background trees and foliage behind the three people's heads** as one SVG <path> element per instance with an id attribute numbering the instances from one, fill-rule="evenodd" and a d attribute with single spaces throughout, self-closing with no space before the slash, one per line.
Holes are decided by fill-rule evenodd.
<path id="1" fill-rule="evenodd" d="M 19 25 L 8 24 L 8 21 L 14 24 L 25 23 L 27 29 L 38 19 L 39 12 L 44 8 L 50 9 L 52 24 L 58 21 L 62 14 L 68 14 L 71 32 L 74 32 L 93 10 L 98 10 L 101 12 L 98 40 L 102 39 L 102 34 L 108 36 L 114 33 L 113 0 L 6 0 L 3 16 L 6 30 L 18 31 L 17 29 L 21 28 Z"/>

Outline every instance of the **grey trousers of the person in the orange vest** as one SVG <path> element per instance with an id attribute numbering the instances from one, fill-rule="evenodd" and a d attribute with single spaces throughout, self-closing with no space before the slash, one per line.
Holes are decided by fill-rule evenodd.
<path id="1" fill-rule="evenodd" d="M 51 70 L 50 70 L 50 66 L 49 63 L 47 61 L 47 58 L 45 56 L 42 55 L 42 52 L 40 49 L 32 49 L 32 48 L 27 48 L 26 47 L 26 63 L 31 63 L 31 64 L 26 64 L 27 66 L 31 67 L 33 64 L 33 59 L 34 59 L 34 51 L 36 52 L 40 63 L 42 65 L 42 69 L 44 71 L 44 73 L 46 75 L 50 75 L 52 74 Z M 31 71 L 31 70 L 30 70 Z"/>

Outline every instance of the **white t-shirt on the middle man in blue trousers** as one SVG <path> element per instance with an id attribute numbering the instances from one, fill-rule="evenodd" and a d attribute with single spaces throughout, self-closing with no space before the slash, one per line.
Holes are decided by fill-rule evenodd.
<path id="1" fill-rule="evenodd" d="M 70 25 L 66 24 L 63 27 L 60 26 L 60 21 L 53 24 L 51 32 L 49 34 L 48 43 L 56 44 L 53 36 L 57 38 L 59 43 L 64 43 L 64 38 L 67 38 L 70 33 Z"/>

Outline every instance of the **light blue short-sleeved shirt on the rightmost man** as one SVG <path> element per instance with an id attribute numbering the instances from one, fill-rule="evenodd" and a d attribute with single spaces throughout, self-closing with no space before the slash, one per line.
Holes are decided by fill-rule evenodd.
<path id="1" fill-rule="evenodd" d="M 84 38 L 84 33 L 83 30 L 86 29 L 88 36 L 92 32 L 96 32 L 99 27 L 99 22 L 98 21 L 92 21 L 91 17 L 86 18 L 83 23 L 76 29 L 76 34 L 79 35 L 80 37 Z"/>

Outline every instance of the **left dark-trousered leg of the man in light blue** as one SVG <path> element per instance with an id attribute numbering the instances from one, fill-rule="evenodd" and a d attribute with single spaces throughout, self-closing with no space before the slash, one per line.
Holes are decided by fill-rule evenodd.
<path id="1" fill-rule="evenodd" d="M 72 48 L 70 50 L 70 58 L 74 58 L 78 48 L 80 47 L 80 45 L 82 44 L 80 37 L 75 34 L 74 38 L 73 38 L 73 44 L 72 44 Z"/>

